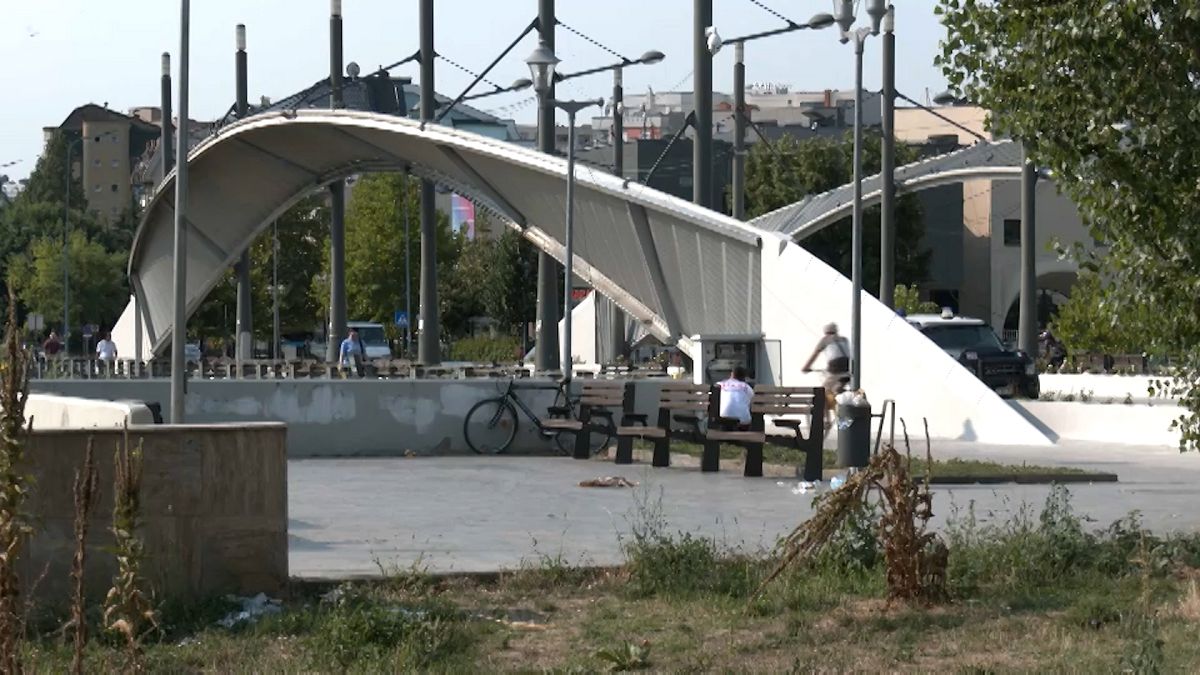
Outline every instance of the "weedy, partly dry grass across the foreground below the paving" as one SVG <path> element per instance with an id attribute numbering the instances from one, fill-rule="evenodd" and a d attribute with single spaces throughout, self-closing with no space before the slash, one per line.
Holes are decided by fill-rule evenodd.
<path id="1" fill-rule="evenodd" d="M 644 490 L 644 489 L 640 489 Z M 884 601 L 877 514 L 863 509 L 808 566 L 751 601 L 769 556 L 665 530 L 640 495 L 619 568 L 544 556 L 490 578 L 401 569 L 294 590 L 284 611 L 220 628 L 212 601 L 163 608 L 150 671 L 1200 671 L 1200 536 L 1135 519 L 1088 531 L 1056 490 L 1040 510 L 979 525 L 953 515 L 950 601 Z M 71 650 L 26 641 L 31 671 Z M 94 641 L 88 671 L 121 664 Z"/>

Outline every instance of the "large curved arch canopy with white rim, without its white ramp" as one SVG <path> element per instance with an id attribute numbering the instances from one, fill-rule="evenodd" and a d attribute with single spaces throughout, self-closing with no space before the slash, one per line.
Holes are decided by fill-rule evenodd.
<path id="1" fill-rule="evenodd" d="M 314 187 L 409 171 L 464 195 L 562 259 L 566 161 L 444 126 L 374 113 L 270 113 L 188 156 L 187 312 L 254 238 Z M 676 197 L 576 169 L 575 271 L 664 341 L 760 329 L 760 232 Z M 148 346 L 169 344 L 174 174 L 146 208 L 130 257 Z M 121 323 L 132 323 L 131 306 Z"/>

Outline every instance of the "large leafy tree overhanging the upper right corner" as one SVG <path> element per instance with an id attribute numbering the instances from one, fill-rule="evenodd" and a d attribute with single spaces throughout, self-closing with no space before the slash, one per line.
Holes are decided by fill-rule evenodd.
<path id="1" fill-rule="evenodd" d="M 1052 172 L 1108 246 L 1081 261 L 1100 276 L 1067 311 L 1129 322 L 1138 351 L 1175 357 L 1174 393 L 1190 413 L 1181 449 L 1200 448 L 1200 0 L 941 0 L 937 11 L 952 88 Z"/>

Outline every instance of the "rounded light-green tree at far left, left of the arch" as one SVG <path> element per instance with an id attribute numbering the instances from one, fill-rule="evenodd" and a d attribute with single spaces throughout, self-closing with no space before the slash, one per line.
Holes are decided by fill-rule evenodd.
<path id="1" fill-rule="evenodd" d="M 112 325 L 128 301 L 125 280 L 126 255 L 109 252 L 80 231 L 70 237 L 71 325 Z M 30 311 L 46 322 L 62 317 L 62 240 L 40 238 L 28 252 L 8 262 L 8 286 Z"/>

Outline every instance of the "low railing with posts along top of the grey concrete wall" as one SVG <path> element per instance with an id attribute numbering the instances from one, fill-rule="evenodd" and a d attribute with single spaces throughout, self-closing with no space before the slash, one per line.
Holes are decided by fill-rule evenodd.
<path id="1" fill-rule="evenodd" d="M 656 366 L 577 366 L 576 377 L 665 377 Z M 546 374 L 557 376 L 558 374 Z M 338 368 L 319 360 L 271 359 L 203 359 L 187 363 L 188 380 L 473 380 L 530 377 L 533 368 L 448 363 L 436 366 L 414 364 L 407 359 L 377 359 L 361 368 Z M 170 362 L 151 359 L 37 359 L 30 366 L 30 377 L 49 380 L 167 380 Z"/>

